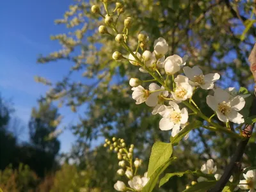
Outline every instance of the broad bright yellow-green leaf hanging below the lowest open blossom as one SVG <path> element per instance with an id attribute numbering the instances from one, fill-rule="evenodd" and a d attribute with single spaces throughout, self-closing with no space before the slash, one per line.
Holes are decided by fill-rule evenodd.
<path id="1" fill-rule="evenodd" d="M 172 143 L 163 143 L 161 141 L 154 143 L 148 163 L 148 177 L 151 177 L 171 156 Z"/>

